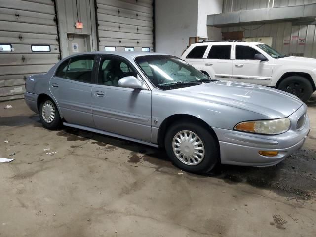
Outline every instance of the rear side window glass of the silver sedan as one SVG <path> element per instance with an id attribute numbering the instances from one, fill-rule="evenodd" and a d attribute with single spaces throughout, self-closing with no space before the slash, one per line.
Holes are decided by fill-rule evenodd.
<path id="1" fill-rule="evenodd" d="M 94 55 L 73 57 L 63 62 L 57 69 L 57 77 L 91 83 Z"/>

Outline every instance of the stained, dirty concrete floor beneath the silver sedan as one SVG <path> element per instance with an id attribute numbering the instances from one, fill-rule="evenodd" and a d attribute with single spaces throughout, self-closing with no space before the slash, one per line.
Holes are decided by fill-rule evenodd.
<path id="1" fill-rule="evenodd" d="M 151 147 L 48 131 L 23 100 L 0 103 L 0 157 L 15 158 L 0 163 L 0 237 L 315 237 L 312 100 L 303 150 L 209 176 L 182 172 Z"/>

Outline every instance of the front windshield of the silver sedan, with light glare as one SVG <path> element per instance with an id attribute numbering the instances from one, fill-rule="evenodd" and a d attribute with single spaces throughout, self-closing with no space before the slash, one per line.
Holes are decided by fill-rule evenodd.
<path id="1" fill-rule="evenodd" d="M 215 81 L 190 64 L 174 56 L 146 55 L 136 57 L 135 61 L 148 79 L 162 90 Z"/>

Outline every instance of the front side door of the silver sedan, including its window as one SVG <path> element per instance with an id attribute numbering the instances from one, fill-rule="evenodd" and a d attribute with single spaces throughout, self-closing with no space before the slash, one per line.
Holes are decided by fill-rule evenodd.
<path id="1" fill-rule="evenodd" d="M 111 55 L 101 57 L 97 83 L 92 86 L 95 127 L 150 142 L 151 91 L 118 87 L 118 80 L 127 76 L 138 76 L 128 61 Z"/>

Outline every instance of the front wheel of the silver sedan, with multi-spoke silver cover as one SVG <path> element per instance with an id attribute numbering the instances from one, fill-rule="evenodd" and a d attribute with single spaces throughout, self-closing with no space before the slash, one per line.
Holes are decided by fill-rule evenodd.
<path id="1" fill-rule="evenodd" d="M 181 131 L 185 131 L 185 132 L 179 135 Z M 185 137 L 186 135 L 188 137 L 189 135 L 189 138 L 194 139 L 194 142 L 198 142 L 200 140 L 202 142 L 202 145 L 201 144 L 197 145 L 198 148 L 194 149 L 194 147 L 192 146 L 192 143 L 189 143 L 188 141 L 184 143 L 185 142 L 184 140 L 181 146 L 173 145 L 173 141 L 179 144 L 178 141 L 174 140 L 176 139 L 177 135 L 179 135 L 180 137 L 181 136 Z M 179 136 L 177 136 L 178 139 L 180 139 Z M 192 173 L 208 173 L 216 166 L 216 164 L 219 163 L 219 160 L 220 160 L 220 150 L 219 150 L 218 140 L 215 137 L 215 135 L 211 134 L 207 130 L 207 128 L 197 125 L 193 122 L 179 121 L 171 125 L 168 128 L 168 131 L 165 135 L 164 146 L 165 146 L 165 150 L 168 157 L 171 159 L 172 163 L 175 166 L 179 167 L 182 170 L 192 172 Z M 204 148 L 204 151 L 198 150 L 199 147 L 201 146 Z M 199 159 L 197 158 L 194 159 L 193 156 L 191 157 L 185 156 L 182 153 L 182 151 L 179 151 L 179 150 L 174 151 L 174 148 L 178 149 L 179 147 L 182 148 L 183 152 L 187 153 L 187 155 L 191 154 L 192 149 L 194 149 L 193 151 L 198 152 L 199 157 L 197 156 L 197 154 L 195 155 Z M 180 152 L 180 155 L 179 155 L 179 152 Z M 204 152 L 204 154 L 202 154 L 201 152 Z M 176 153 L 178 155 L 176 155 Z"/>

